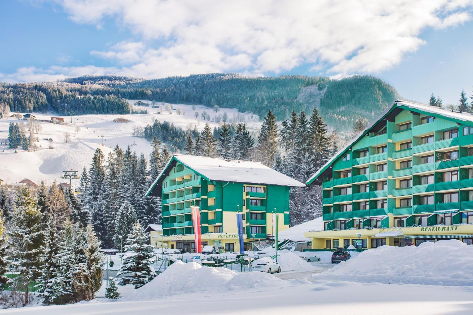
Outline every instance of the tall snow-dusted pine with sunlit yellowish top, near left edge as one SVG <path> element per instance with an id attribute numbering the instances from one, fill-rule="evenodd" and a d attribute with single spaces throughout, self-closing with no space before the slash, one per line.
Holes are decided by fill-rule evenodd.
<path id="1" fill-rule="evenodd" d="M 17 292 L 24 292 L 23 306 L 30 301 L 28 285 L 40 276 L 41 253 L 44 240 L 43 214 L 38 209 L 36 198 L 23 187 L 19 192 L 21 201 L 12 215 L 12 227 L 8 231 L 9 271 L 18 274 L 9 280 Z"/>

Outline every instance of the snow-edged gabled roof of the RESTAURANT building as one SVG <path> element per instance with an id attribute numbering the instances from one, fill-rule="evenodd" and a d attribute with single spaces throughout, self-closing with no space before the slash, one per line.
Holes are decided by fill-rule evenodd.
<path id="1" fill-rule="evenodd" d="M 430 106 L 424 104 L 418 104 L 403 100 L 396 100 L 391 107 L 385 109 L 385 111 L 379 115 L 379 117 L 372 123 L 370 123 L 363 131 L 361 131 L 358 136 L 353 138 L 342 150 L 335 154 L 324 166 L 322 166 L 314 175 L 312 175 L 306 182 L 307 185 L 312 184 L 317 177 L 319 177 L 325 170 L 332 165 L 332 163 L 339 157 L 341 157 L 350 147 L 360 140 L 367 132 L 371 130 L 378 122 L 383 120 L 387 114 L 391 113 L 395 108 L 407 109 L 412 112 L 432 115 L 434 117 L 441 117 L 444 119 L 452 120 L 455 122 L 461 122 L 470 126 L 473 126 L 473 115 L 469 113 L 460 113 L 458 111 L 452 111 L 447 109 L 442 109 L 437 106 Z"/>

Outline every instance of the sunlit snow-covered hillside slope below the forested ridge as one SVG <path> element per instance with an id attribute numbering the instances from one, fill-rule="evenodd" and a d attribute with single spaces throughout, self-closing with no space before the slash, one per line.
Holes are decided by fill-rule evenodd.
<path id="1" fill-rule="evenodd" d="M 133 104 L 136 100 L 129 100 Z M 159 103 L 160 104 L 160 103 Z M 166 106 L 166 105 L 165 105 Z M 134 110 L 148 110 L 148 114 L 97 114 L 97 115 L 79 115 L 73 116 L 72 123 L 70 116 L 59 116 L 56 114 L 35 114 L 38 120 L 50 120 L 50 117 L 64 117 L 66 125 L 53 124 L 50 122 L 41 122 L 42 131 L 37 136 L 39 141 L 36 142 L 37 151 L 26 152 L 21 148 L 9 149 L 5 146 L 5 140 L 8 137 L 8 129 L 10 122 L 27 123 L 23 120 L 18 120 L 13 117 L 8 119 L 0 119 L 0 179 L 8 184 L 18 183 L 24 178 L 28 178 L 39 184 L 44 181 L 47 184 L 52 184 L 54 180 L 58 183 L 66 182 L 61 180 L 62 171 L 78 170 L 80 171 L 84 166 L 88 167 L 94 151 L 100 147 L 106 155 L 112 148 L 119 144 L 122 148 L 126 148 L 128 144 L 132 145 L 132 149 L 136 150 L 138 154 L 144 153 L 148 158 L 151 151 L 149 142 L 145 139 L 140 139 L 132 136 L 133 128 L 145 127 L 151 124 L 155 119 L 158 121 L 172 122 L 177 126 L 185 129 L 197 127 L 198 130 L 203 129 L 206 120 L 195 118 L 192 110 L 192 105 L 172 105 L 173 108 L 181 108 L 185 114 L 169 114 L 166 110 L 162 114 L 157 114 L 158 109 L 143 106 L 133 106 Z M 218 113 L 212 111 L 211 108 L 196 105 L 196 112 L 201 114 L 206 111 L 211 118 L 218 114 L 227 113 L 229 119 L 233 119 L 234 115 L 244 115 L 245 120 L 253 120 L 247 122 L 250 128 L 254 130 L 261 126 L 258 122 L 258 116 L 254 115 L 251 119 L 251 114 L 238 113 L 236 109 L 221 108 Z M 24 114 L 24 113 L 20 113 Z M 115 118 L 123 117 L 131 120 L 127 123 L 113 122 Z M 200 117 L 200 116 L 199 116 Z M 209 122 L 210 126 L 218 126 L 216 122 Z M 79 131 L 76 126 L 79 126 Z M 27 128 L 26 128 L 27 131 Z M 69 133 L 70 141 L 65 143 L 65 133 Z M 29 132 L 27 132 L 29 135 Z M 103 143 L 102 145 L 102 136 Z M 50 142 L 45 139 L 53 139 L 53 149 L 48 149 Z M 75 182 L 77 184 L 78 181 Z"/>

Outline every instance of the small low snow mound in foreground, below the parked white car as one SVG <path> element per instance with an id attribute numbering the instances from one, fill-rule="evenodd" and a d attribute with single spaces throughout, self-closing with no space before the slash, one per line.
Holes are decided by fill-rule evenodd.
<path id="1" fill-rule="evenodd" d="M 287 286 L 288 283 L 284 280 L 274 277 L 273 275 L 254 271 L 239 273 L 232 279 L 228 280 L 227 283 L 222 285 L 220 289 L 223 290 L 234 290 L 234 289 L 253 289 L 253 288 L 276 288 Z"/>

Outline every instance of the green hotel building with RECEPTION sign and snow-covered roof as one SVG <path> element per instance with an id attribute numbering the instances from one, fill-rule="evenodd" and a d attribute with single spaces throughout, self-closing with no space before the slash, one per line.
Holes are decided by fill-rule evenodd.
<path id="1" fill-rule="evenodd" d="M 273 213 L 279 214 L 279 230 L 289 228 L 291 186 L 305 184 L 258 162 L 175 154 L 147 195 L 162 199 L 167 247 L 195 252 L 191 214 L 195 203 L 200 209 L 202 245 L 237 252 L 236 212 L 243 213 L 245 243 L 271 238 Z"/>

